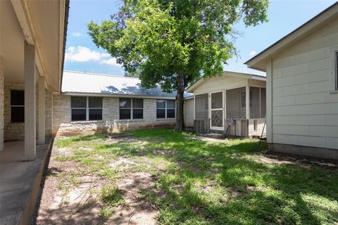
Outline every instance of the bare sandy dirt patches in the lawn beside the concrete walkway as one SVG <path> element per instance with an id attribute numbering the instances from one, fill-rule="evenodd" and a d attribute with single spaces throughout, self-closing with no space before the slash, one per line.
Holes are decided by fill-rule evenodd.
<path id="1" fill-rule="evenodd" d="M 127 137 L 116 140 L 130 141 Z M 87 147 L 77 149 L 93 150 Z M 101 188 L 111 181 L 98 176 L 96 172 L 89 173 L 87 166 L 78 162 L 56 160 L 60 156 L 73 155 L 73 151 L 71 148 L 56 146 L 51 151 L 33 224 L 157 224 L 158 209 L 143 198 L 146 191 L 152 191 L 154 177 L 147 172 L 123 174 L 139 165 L 139 158 L 118 158 L 111 162 L 111 168 L 123 174 L 123 178 L 113 184 L 120 191 L 124 203 L 113 207 L 111 216 L 104 219 L 101 213 L 106 205 L 100 193 Z M 100 160 L 100 157 L 96 155 L 95 159 Z"/>

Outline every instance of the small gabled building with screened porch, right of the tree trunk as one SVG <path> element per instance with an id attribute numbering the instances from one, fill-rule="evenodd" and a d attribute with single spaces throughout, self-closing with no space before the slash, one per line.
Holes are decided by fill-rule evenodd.
<path id="1" fill-rule="evenodd" d="M 202 77 L 186 91 L 194 94 L 186 105 L 194 105 L 188 121 L 194 121 L 196 132 L 261 136 L 265 123 L 265 77 L 226 71 L 218 77 Z"/>

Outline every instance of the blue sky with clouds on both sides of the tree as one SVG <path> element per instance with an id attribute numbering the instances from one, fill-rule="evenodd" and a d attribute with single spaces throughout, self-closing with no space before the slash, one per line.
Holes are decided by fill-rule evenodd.
<path id="1" fill-rule="evenodd" d="M 104 49 L 96 48 L 87 34 L 86 26 L 91 20 L 100 23 L 101 20 L 109 19 L 111 14 L 118 11 L 118 2 L 117 0 L 70 0 L 65 70 L 124 75 L 123 68 L 115 62 L 114 58 L 111 58 Z M 243 63 L 334 2 L 329 0 L 270 1 L 268 23 L 256 27 L 245 27 L 243 23 L 234 25 L 234 29 L 242 32 L 242 36 L 235 41 L 239 58 L 232 58 L 228 65 L 224 66 L 224 70 L 263 75 L 262 72 L 246 68 Z"/>

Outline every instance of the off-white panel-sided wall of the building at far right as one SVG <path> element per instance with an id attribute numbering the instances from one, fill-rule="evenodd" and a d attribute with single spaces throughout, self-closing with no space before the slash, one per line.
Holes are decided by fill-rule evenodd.
<path id="1" fill-rule="evenodd" d="M 268 142 L 338 149 L 334 51 L 338 19 L 274 56 L 267 66 Z"/>

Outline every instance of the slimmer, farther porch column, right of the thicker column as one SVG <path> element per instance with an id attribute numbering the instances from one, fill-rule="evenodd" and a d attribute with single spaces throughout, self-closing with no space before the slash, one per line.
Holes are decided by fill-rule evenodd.
<path id="1" fill-rule="evenodd" d="M 45 91 L 44 91 L 44 77 L 39 76 L 39 145 L 44 144 L 45 131 Z"/>

